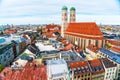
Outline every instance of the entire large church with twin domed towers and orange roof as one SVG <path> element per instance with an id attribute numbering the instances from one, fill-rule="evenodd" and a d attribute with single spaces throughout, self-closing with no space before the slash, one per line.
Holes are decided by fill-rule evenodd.
<path id="1" fill-rule="evenodd" d="M 93 44 L 99 48 L 105 44 L 104 36 L 94 22 L 76 22 L 76 9 L 70 8 L 70 22 L 68 22 L 67 7 L 62 7 L 61 36 L 72 41 L 78 47 L 85 49 Z"/>

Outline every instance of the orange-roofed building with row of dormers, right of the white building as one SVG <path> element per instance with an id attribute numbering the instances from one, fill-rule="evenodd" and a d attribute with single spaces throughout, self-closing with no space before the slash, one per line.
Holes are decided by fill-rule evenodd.
<path id="1" fill-rule="evenodd" d="M 70 80 L 92 80 L 87 61 L 68 62 Z"/>

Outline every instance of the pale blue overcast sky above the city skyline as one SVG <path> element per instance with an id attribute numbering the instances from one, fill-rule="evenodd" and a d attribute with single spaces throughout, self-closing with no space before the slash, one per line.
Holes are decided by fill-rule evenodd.
<path id="1" fill-rule="evenodd" d="M 0 25 L 61 24 L 64 5 L 76 8 L 77 22 L 120 24 L 120 0 L 0 0 Z"/>

